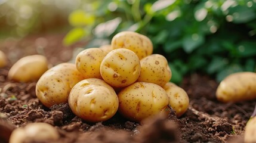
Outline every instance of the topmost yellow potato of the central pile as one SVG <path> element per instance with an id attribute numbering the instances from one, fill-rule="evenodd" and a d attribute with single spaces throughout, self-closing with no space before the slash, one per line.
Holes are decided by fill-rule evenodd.
<path id="1" fill-rule="evenodd" d="M 138 58 L 142 59 L 152 54 L 153 44 L 149 38 L 136 32 L 120 32 L 111 41 L 113 49 L 127 48 L 135 52 Z"/>

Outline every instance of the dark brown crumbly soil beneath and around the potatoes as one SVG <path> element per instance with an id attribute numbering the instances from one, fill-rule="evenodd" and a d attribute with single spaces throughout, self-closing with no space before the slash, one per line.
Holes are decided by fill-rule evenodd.
<path id="1" fill-rule="evenodd" d="M 63 46 L 63 35 L 30 36 L 0 41 L 9 63 L 0 69 L 0 142 L 16 128 L 31 122 L 45 122 L 57 128 L 58 141 L 41 142 L 243 142 L 243 132 L 255 107 L 255 100 L 221 103 L 215 98 L 218 83 L 211 77 L 193 73 L 181 87 L 190 98 L 183 116 L 171 110 L 168 117 L 155 116 L 143 123 L 129 121 L 116 113 L 112 119 L 87 123 L 76 117 L 68 104 L 47 108 L 35 95 L 36 82 L 18 83 L 7 79 L 8 70 L 25 55 L 44 54 L 53 66 L 70 61 L 76 47 Z M 35 142 L 28 140 L 26 142 Z"/>

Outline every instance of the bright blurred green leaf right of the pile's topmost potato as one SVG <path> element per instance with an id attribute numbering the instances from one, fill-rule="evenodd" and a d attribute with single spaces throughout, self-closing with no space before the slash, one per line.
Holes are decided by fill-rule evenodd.
<path id="1" fill-rule="evenodd" d="M 202 45 L 205 42 L 205 38 L 203 35 L 194 33 L 192 35 L 186 35 L 183 38 L 183 49 L 187 53 L 191 53 L 194 51 L 198 46 Z"/>

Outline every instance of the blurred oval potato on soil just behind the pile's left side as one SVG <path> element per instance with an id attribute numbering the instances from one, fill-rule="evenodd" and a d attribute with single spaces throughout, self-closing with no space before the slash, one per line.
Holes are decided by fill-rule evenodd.
<path id="1" fill-rule="evenodd" d="M 17 82 L 38 80 L 48 70 L 47 58 L 43 55 L 29 55 L 20 58 L 8 72 L 8 79 Z"/>

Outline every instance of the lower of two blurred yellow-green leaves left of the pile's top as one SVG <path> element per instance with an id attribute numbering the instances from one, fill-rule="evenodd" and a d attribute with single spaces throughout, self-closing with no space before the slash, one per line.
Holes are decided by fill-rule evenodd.
<path id="1" fill-rule="evenodd" d="M 82 28 L 74 28 L 70 30 L 69 33 L 64 37 L 63 43 L 64 45 L 71 45 L 75 42 L 78 42 L 81 38 L 87 35 L 87 32 L 85 32 Z"/>

